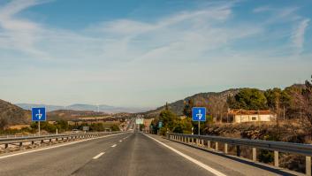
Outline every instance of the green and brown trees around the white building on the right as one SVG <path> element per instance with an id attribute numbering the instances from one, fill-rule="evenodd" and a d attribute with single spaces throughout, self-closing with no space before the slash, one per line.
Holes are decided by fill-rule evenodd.
<path id="1" fill-rule="evenodd" d="M 215 98 L 215 101 L 212 98 Z M 202 122 L 201 131 L 205 126 L 216 122 L 217 117 L 222 122 L 228 109 L 270 110 L 278 115 L 278 119 L 302 119 L 312 126 L 312 76 L 311 80 L 306 80 L 304 85 L 293 85 L 284 89 L 270 88 L 265 91 L 257 88 L 242 88 L 236 95 L 228 96 L 225 101 L 216 96 L 212 98 L 209 100 L 209 106 L 206 106 L 207 121 Z M 214 104 L 211 104 L 212 102 Z M 186 101 L 183 109 L 185 118 L 177 117 L 166 105 L 164 111 L 161 111 L 159 116 L 152 121 L 151 132 L 154 134 L 166 132 L 191 134 L 193 129 L 196 134 L 197 122 L 191 119 L 192 108 L 196 105 L 195 100 Z M 158 126 L 159 121 L 163 123 L 162 127 Z"/>

